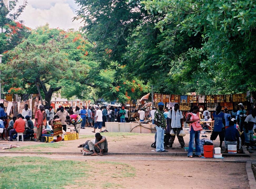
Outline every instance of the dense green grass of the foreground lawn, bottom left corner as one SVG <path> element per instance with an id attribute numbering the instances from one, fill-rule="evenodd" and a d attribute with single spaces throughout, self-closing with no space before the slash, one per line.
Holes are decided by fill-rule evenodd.
<path id="1" fill-rule="evenodd" d="M 88 164 L 72 160 L 41 157 L 4 157 L 0 159 L 0 188 L 59 189 L 85 183 L 75 182 L 91 171 Z"/>

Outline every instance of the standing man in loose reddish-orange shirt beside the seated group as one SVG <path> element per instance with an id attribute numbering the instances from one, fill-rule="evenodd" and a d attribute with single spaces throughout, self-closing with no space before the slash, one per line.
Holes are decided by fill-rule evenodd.
<path id="1" fill-rule="evenodd" d="M 43 125 L 46 126 L 46 113 L 45 113 L 45 107 L 41 105 L 39 106 L 39 110 L 37 110 L 35 114 L 34 127 L 36 127 L 36 142 L 41 142 L 40 138 L 42 135 Z"/>

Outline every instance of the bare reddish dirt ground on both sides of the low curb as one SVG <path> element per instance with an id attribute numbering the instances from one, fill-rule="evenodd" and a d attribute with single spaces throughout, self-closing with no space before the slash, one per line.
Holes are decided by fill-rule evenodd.
<path id="1" fill-rule="evenodd" d="M 52 148 L 52 143 L 36 143 L 31 141 L 17 142 L 17 141 L 0 141 L 0 151 L 2 147 L 12 145 L 33 146 L 38 144 L 45 144 L 44 148 L 29 148 L 22 149 L 22 151 L 47 151 L 47 152 L 80 152 L 81 148 L 77 148 L 79 144 L 86 140 L 94 138 L 92 128 L 81 129 L 80 138 L 78 140 L 61 141 L 58 142 L 60 146 Z M 96 130 L 97 131 L 97 130 Z M 102 133 L 108 135 L 108 133 Z M 129 135 L 128 133 L 117 134 L 109 133 L 108 147 L 109 152 L 147 152 L 156 153 L 155 149 L 150 145 L 154 142 L 154 134 L 138 134 Z M 210 135 L 208 135 L 210 138 Z M 189 134 L 184 137 L 185 146 L 188 147 Z M 54 144 L 54 143 L 53 143 Z M 49 145 L 49 146 L 48 146 Z M 219 146 L 219 139 L 214 141 L 215 146 Z M 184 152 L 180 148 L 177 138 L 175 139 L 174 148 L 168 149 L 169 152 Z M 224 148 L 224 143 L 223 143 Z M 152 151 L 153 150 L 153 151 Z M 15 150 L 16 151 L 16 150 Z M 17 148 L 18 151 L 18 148 Z M 255 153 L 254 153 L 255 154 Z M 1 158 L 4 156 L 44 156 L 53 159 L 69 159 L 86 161 L 95 166 L 90 176 L 82 178 L 85 183 L 95 183 L 82 186 L 82 188 L 245 188 L 249 189 L 249 182 L 245 170 L 244 162 L 228 162 L 233 161 L 232 158 L 224 159 L 200 159 L 187 158 L 186 156 L 79 156 L 79 155 L 42 155 L 42 154 L 0 154 Z M 239 158 L 243 160 L 243 158 Z M 123 168 L 116 164 L 102 164 L 102 161 L 120 162 L 128 164 L 130 169 L 128 176 L 123 175 Z M 122 165 L 124 166 L 124 165 Z M 121 169 L 122 168 L 122 169 Z M 131 173 L 134 173 L 131 174 Z M 66 189 L 73 189 L 81 187 L 80 185 L 65 186 Z"/>

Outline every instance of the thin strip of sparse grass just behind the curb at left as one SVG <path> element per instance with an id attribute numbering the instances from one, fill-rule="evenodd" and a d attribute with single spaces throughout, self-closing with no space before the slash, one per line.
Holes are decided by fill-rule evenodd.
<path id="1" fill-rule="evenodd" d="M 60 148 L 63 145 L 62 142 L 56 142 L 56 143 L 35 143 L 35 145 L 29 145 L 29 146 L 22 146 L 19 148 L 11 148 L 9 151 L 24 151 L 24 150 L 30 150 L 33 149 L 34 151 L 41 151 L 38 150 L 38 148 Z"/>

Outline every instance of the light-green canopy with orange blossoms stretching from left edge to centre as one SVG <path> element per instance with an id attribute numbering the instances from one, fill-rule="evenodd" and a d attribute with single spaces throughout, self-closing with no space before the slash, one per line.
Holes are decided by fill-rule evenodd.
<path id="1" fill-rule="evenodd" d="M 118 98 L 121 102 L 148 90 L 139 80 L 128 81 L 122 75 L 115 76 L 116 72 L 110 68 L 99 67 L 94 53 L 89 50 L 93 46 L 76 31 L 50 29 L 48 25 L 39 27 L 6 53 L 8 58 L 2 73 L 5 88 L 37 89 L 43 92 L 47 102 L 53 92 L 60 89 L 67 98 L 76 95 L 85 99 L 95 90 L 97 96 L 109 100 Z"/>

